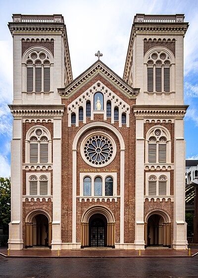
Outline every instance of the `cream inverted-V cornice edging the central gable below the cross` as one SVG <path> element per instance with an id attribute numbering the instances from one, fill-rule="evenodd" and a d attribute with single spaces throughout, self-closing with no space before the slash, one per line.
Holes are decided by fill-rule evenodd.
<path id="1" fill-rule="evenodd" d="M 115 86 L 121 93 L 128 98 L 136 98 L 140 88 L 133 88 L 126 83 L 120 76 L 118 76 L 113 70 L 110 70 L 104 63 L 98 60 L 89 69 L 85 70 L 81 75 L 74 79 L 65 88 L 58 88 L 58 92 L 61 98 L 69 98 L 75 94 L 82 86 L 86 85 L 97 74 L 108 80 L 113 86 Z"/>

